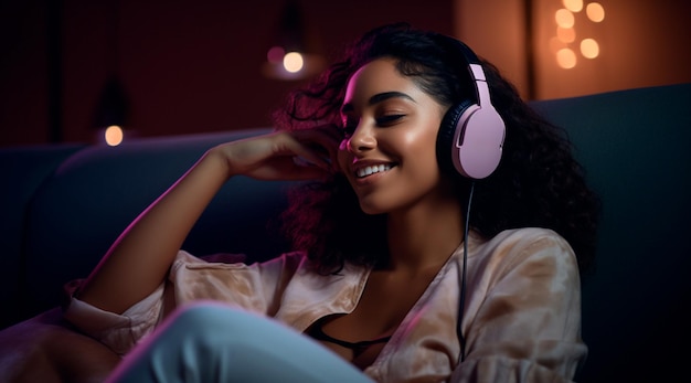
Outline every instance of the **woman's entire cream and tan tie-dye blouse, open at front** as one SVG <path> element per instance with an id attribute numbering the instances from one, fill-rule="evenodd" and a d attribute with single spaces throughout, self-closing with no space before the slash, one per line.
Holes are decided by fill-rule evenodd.
<path id="1" fill-rule="evenodd" d="M 581 339 L 581 285 L 571 246 L 544 228 L 468 240 L 463 318 L 456 334 L 463 245 L 449 257 L 364 373 L 379 382 L 568 382 L 587 353 Z M 65 318 L 125 354 L 176 307 L 214 299 L 274 317 L 304 332 L 320 318 L 351 312 L 370 275 L 347 264 L 311 272 L 301 253 L 252 265 L 208 263 L 181 251 L 168 281 L 123 315 L 76 298 Z"/>

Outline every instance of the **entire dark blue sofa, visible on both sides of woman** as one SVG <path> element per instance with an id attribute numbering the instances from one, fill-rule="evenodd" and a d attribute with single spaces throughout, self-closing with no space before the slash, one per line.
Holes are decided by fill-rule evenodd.
<path id="1" fill-rule="evenodd" d="M 567 129 L 600 194 L 595 267 L 582 276 L 582 382 L 677 380 L 691 294 L 691 84 L 532 102 Z M 210 147 L 269 131 L 140 138 L 119 147 L 0 149 L 2 328 L 60 305 L 63 285 L 96 266 L 119 233 Z M 263 260 L 290 182 L 234 178 L 183 248 Z"/>

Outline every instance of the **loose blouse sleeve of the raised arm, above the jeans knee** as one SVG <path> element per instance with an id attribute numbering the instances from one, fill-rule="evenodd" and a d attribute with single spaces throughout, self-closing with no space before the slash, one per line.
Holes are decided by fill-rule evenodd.
<path id="1" fill-rule="evenodd" d="M 297 256 L 254 265 L 209 263 L 180 251 L 168 280 L 121 315 L 100 310 L 72 296 L 66 320 L 118 354 L 127 353 L 172 309 L 198 299 L 213 299 L 266 313 L 279 300 Z"/>

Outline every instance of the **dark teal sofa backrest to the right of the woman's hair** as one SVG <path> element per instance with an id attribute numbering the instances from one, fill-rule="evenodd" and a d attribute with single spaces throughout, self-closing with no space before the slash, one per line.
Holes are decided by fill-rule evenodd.
<path id="1" fill-rule="evenodd" d="M 677 380 L 683 353 L 668 344 L 688 333 L 691 297 L 691 84 L 534 106 L 567 129 L 603 201 L 596 267 L 583 276 L 581 381 Z"/>

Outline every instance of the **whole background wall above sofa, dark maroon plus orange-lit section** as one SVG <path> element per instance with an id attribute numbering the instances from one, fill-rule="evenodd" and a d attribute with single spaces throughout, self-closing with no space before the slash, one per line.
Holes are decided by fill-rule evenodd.
<path id="1" fill-rule="evenodd" d="M 0 0 L 0 147 L 94 142 L 114 72 L 140 137 L 268 126 L 300 84 L 261 73 L 287 1 Z M 691 82 L 687 0 L 598 0 L 602 23 L 577 12 L 577 39 L 595 38 L 600 55 L 571 70 L 551 43 L 562 0 L 296 1 L 327 58 L 373 26 L 408 21 L 465 40 L 530 99 Z"/>

